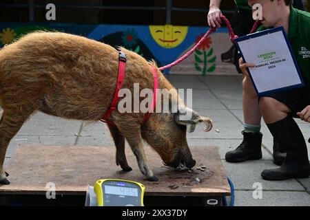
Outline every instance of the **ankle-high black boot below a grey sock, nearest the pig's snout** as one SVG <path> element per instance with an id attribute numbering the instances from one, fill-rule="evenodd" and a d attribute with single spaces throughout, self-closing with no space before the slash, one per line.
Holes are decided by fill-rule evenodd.
<path id="1" fill-rule="evenodd" d="M 244 162 L 248 159 L 262 158 L 262 133 L 242 131 L 243 141 L 234 151 L 225 155 L 227 162 Z"/>

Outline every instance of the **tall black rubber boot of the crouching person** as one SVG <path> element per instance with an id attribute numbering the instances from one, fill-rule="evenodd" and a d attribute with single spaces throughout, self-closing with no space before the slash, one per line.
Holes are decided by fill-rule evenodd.
<path id="1" fill-rule="evenodd" d="M 310 175 L 310 164 L 307 145 L 302 132 L 291 117 L 267 124 L 269 131 L 278 140 L 281 152 L 287 157 L 280 168 L 262 171 L 262 178 L 268 180 L 284 180 L 304 178 Z"/>

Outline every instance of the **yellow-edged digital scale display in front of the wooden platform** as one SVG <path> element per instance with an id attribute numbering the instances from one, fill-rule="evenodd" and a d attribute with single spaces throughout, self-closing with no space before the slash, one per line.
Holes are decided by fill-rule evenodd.
<path id="1" fill-rule="evenodd" d="M 145 186 L 123 179 L 99 179 L 94 184 L 98 206 L 144 206 Z"/>

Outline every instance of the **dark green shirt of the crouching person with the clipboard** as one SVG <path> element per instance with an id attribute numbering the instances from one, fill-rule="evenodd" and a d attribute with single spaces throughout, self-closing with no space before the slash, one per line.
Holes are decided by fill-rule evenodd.
<path id="1" fill-rule="evenodd" d="M 257 31 L 267 30 L 260 25 Z M 291 7 L 289 14 L 289 43 L 296 57 L 304 83 L 310 87 L 310 13 Z"/>

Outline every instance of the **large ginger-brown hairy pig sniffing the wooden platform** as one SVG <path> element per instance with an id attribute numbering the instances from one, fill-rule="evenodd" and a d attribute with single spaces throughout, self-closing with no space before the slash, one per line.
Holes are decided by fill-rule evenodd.
<path id="1" fill-rule="evenodd" d="M 112 112 L 107 124 L 116 146 L 116 164 L 125 171 L 132 168 L 125 156 L 125 139 L 149 181 L 158 181 L 147 164 L 143 143 L 160 155 L 164 164 L 192 168 L 195 160 L 187 145 L 187 125 L 191 131 L 198 123 L 211 129 L 211 119 L 186 107 L 176 89 L 156 67 L 154 61 L 121 48 L 127 55 L 123 88 L 132 91 L 154 88 L 152 65 L 158 75 L 159 89 L 172 89 L 178 103 L 176 113 L 151 113 L 141 126 L 145 113 Z M 10 184 L 3 162 L 8 144 L 23 123 L 36 111 L 56 117 L 96 122 L 110 107 L 118 76 L 118 50 L 83 36 L 61 32 L 33 32 L 0 50 L 0 184 Z M 163 96 L 158 97 L 159 100 Z M 181 120 L 184 113 L 192 113 Z M 144 140 L 144 142 L 143 142 Z M 55 155 L 56 157 L 56 155 Z"/>

